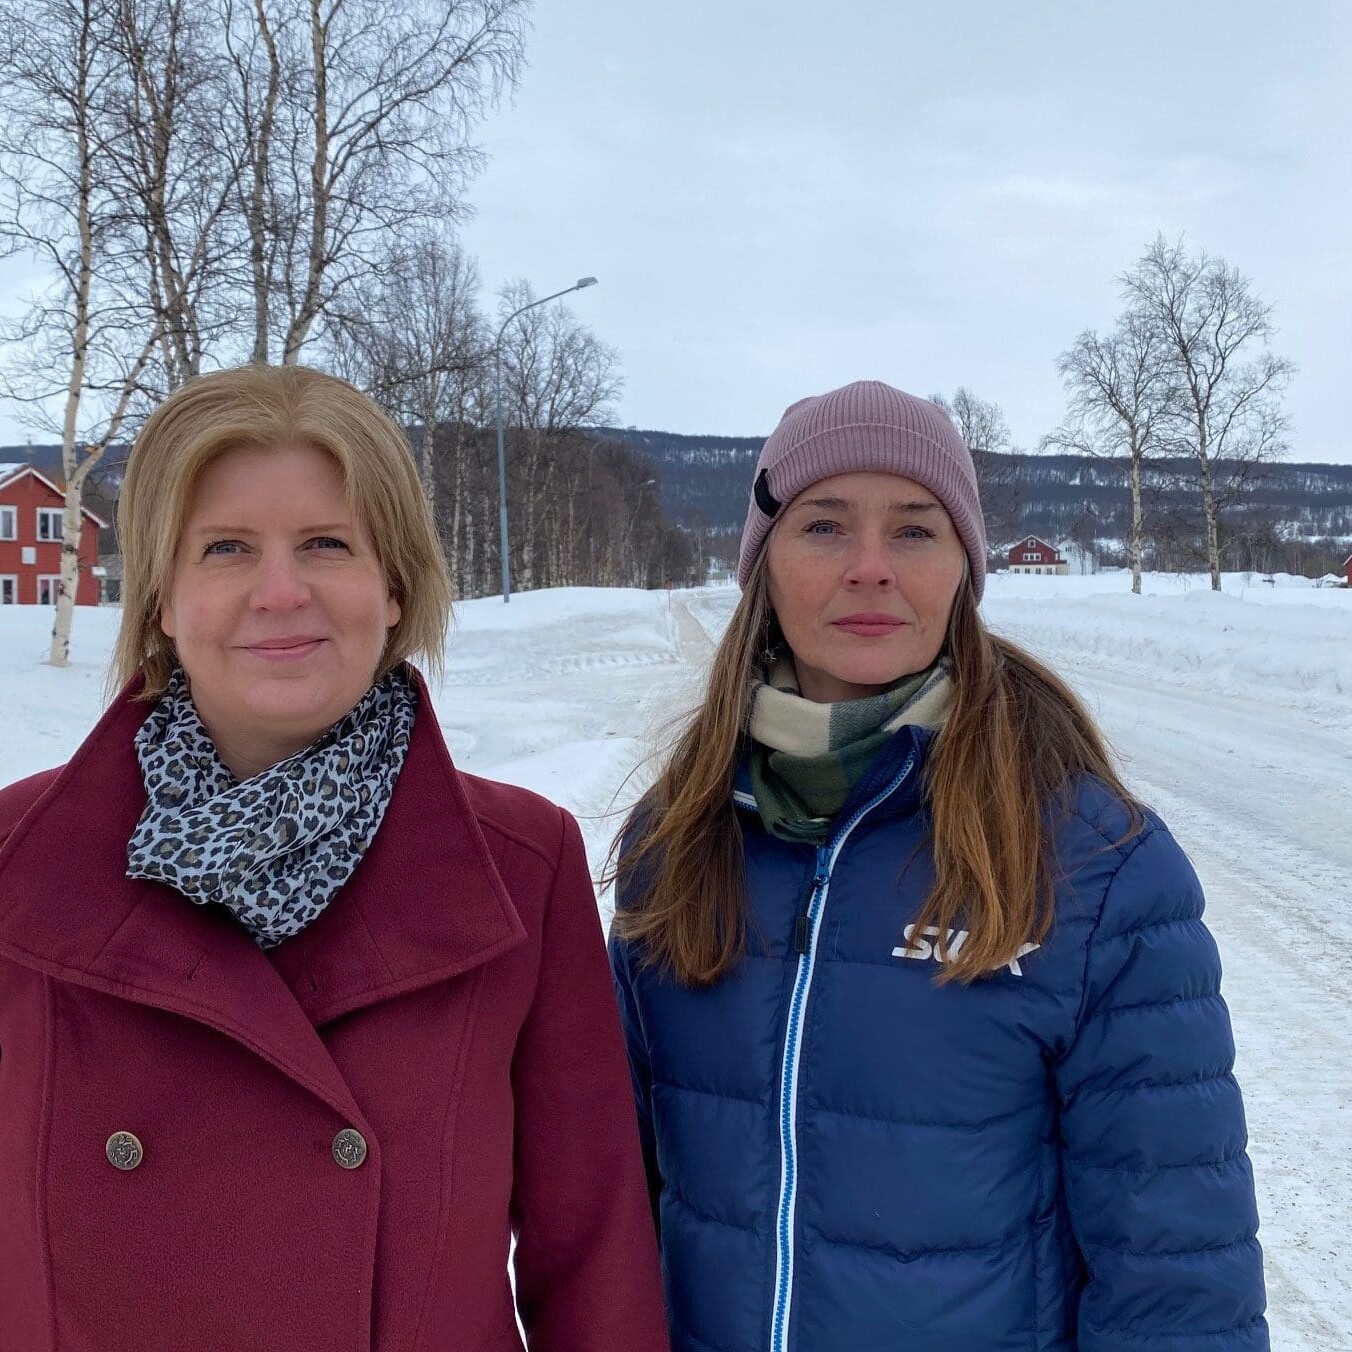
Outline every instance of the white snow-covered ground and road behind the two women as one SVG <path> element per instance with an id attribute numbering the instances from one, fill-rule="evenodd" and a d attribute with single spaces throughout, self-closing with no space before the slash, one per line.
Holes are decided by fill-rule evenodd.
<path id="1" fill-rule="evenodd" d="M 565 803 L 599 868 L 735 599 L 579 588 L 461 606 L 437 692 L 458 764 Z M 1087 696 L 1197 865 L 1234 1015 L 1272 1345 L 1352 1352 L 1352 592 L 1153 576 L 1137 598 L 1122 573 L 996 576 L 984 611 Z M 0 783 L 64 760 L 92 725 L 116 619 L 81 611 L 55 672 L 50 612 L 0 610 Z"/>

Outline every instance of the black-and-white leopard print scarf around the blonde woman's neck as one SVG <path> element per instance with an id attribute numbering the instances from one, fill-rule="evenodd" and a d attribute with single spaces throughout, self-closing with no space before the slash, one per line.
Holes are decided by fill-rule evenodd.
<path id="1" fill-rule="evenodd" d="M 137 733 L 146 810 L 127 876 L 219 903 L 260 948 L 299 934 L 361 863 L 389 806 L 418 695 L 396 668 L 314 745 L 239 781 L 180 668 Z"/>

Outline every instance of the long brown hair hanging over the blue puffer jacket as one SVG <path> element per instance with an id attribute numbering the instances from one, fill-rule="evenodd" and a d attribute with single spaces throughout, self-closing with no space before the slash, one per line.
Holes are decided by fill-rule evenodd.
<path id="1" fill-rule="evenodd" d="M 615 933 L 688 986 L 711 986 L 746 946 L 733 779 L 752 683 L 777 631 L 767 557 L 761 550 L 714 653 L 703 703 L 611 854 L 610 879 L 631 894 L 615 913 Z M 968 580 L 945 650 L 953 702 L 925 771 L 936 876 L 913 933 L 936 929 L 945 957 L 938 979 L 967 983 L 1046 938 L 1056 886 L 1049 827 L 1075 776 L 1095 775 L 1122 799 L 1124 838 L 1142 817 L 1083 703 L 1036 657 L 990 633 Z M 968 937 L 955 952 L 945 936 L 959 929 Z"/>

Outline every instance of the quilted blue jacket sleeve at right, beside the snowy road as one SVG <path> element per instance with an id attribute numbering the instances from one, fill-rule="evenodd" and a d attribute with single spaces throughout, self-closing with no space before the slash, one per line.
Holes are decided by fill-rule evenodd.
<path id="1" fill-rule="evenodd" d="M 1056 1068 L 1087 1268 L 1079 1352 L 1265 1352 L 1263 1256 L 1221 964 L 1157 825 L 1129 846 Z"/>

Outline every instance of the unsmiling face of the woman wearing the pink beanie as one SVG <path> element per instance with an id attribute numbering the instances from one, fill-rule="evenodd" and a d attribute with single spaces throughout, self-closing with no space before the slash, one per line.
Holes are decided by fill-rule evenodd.
<path id="1" fill-rule="evenodd" d="M 940 500 L 910 479 L 836 475 L 799 493 L 767 565 L 804 698 L 861 699 L 929 667 L 965 558 Z"/>

